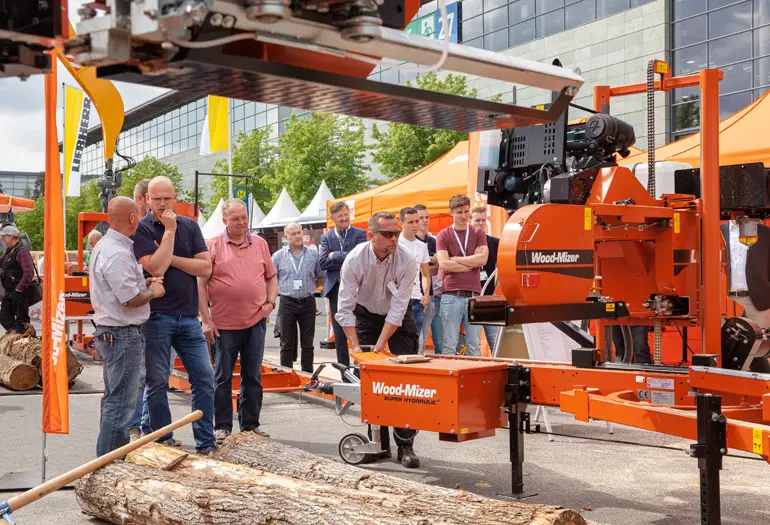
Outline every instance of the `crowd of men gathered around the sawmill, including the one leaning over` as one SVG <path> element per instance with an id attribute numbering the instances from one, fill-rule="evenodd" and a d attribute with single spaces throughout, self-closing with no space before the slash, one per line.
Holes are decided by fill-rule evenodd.
<path id="1" fill-rule="evenodd" d="M 292 223 L 284 228 L 286 245 L 271 255 L 249 232 L 242 201 L 224 204 L 224 231 L 205 241 L 196 221 L 174 212 L 176 196 L 166 177 L 140 182 L 134 199 L 110 201 L 109 230 L 91 240 L 95 342 L 104 361 L 99 455 L 171 423 L 174 354 L 188 373 L 192 409 L 203 413 L 192 427 L 198 453 L 212 454 L 233 432 L 236 361 L 239 430 L 263 434 L 268 318 L 278 305 L 281 365 L 299 359 L 312 372 L 319 288 L 333 314 L 340 363 L 349 365 L 362 345 L 417 354 L 431 334 L 436 352 L 455 353 L 463 321 L 467 354 L 479 354 L 479 330 L 465 309 L 492 276 L 496 240 L 484 233 L 486 210 L 471 210 L 468 197 L 452 198 L 454 223 L 437 237 L 428 232 L 425 206 L 403 208 L 398 217 L 375 213 L 366 232 L 350 225 L 347 204 L 337 202 L 335 227 L 319 249 L 306 246 L 302 226 Z M 382 432 L 383 456 L 390 457 L 389 431 Z M 398 460 L 419 465 L 414 433 L 393 434 Z M 158 441 L 181 445 L 172 433 Z"/>

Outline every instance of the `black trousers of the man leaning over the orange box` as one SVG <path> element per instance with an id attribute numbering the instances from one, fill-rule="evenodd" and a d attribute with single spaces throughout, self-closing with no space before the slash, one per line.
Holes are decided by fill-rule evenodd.
<path id="1" fill-rule="evenodd" d="M 356 335 L 362 345 L 375 345 L 385 326 L 385 316 L 373 314 L 363 306 L 356 305 Z M 417 325 L 414 322 L 414 314 L 411 308 L 406 309 L 401 326 L 388 340 L 388 348 L 392 354 L 411 355 L 416 354 L 420 346 L 420 336 L 417 334 Z M 393 439 L 399 447 L 411 445 L 417 432 L 406 428 L 394 428 Z M 369 429 L 371 438 L 371 428 Z M 388 427 L 380 427 L 380 441 L 384 450 L 390 449 L 390 432 Z"/>

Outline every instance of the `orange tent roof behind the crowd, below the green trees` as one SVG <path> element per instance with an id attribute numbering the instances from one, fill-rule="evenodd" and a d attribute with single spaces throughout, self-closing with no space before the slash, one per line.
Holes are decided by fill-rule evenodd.
<path id="1" fill-rule="evenodd" d="M 372 213 L 389 211 L 398 214 L 405 206 L 424 204 L 433 214 L 449 213 L 449 199 L 468 189 L 468 141 L 459 142 L 443 157 L 414 173 L 405 175 L 370 190 L 342 197 L 351 211 L 351 222 L 363 224 Z M 331 201 L 327 202 L 328 206 Z M 331 220 L 327 221 L 331 224 Z"/>

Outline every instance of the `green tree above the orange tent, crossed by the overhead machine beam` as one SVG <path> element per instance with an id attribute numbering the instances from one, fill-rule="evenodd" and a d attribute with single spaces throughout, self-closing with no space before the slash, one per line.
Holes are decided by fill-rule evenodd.
<path id="1" fill-rule="evenodd" d="M 449 73 L 440 79 L 431 72 L 415 79 L 417 87 L 429 91 L 440 91 L 470 98 L 476 98 L 478 91 L 468 89 L 468 80 L 464 75 Z M 407 82 L 411 86 L 411 82 Z M 501 95 L 491 100 L 500 101 Z M 467 133 L 445 129 L 422 128 L 410 124 L 388 124 L 388 130 L 381 132 L 377 126 L 372 128 L 375 140 L 372 160 L 380 165 L 382 174 L 389 180 L 403 177 L 415 170 L 427 166 L 452 149 L 458 142 L 467 140 Z M 336 194 L 335 194 L 336 195 Z"/>

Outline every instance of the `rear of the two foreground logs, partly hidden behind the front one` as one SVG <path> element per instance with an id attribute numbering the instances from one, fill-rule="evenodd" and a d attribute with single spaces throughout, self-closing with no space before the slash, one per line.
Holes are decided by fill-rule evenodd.
<path id="1" fill-rule="evenodd" d="M 228 437 L 219 446 L 214 457 L 222 461 L 248 465 L 256 469 L 264 469 L 268 472 L 291 476 L 305 481 L 350 489 L 372 490 L 383 494 L 408 496 L 413 501 L 420 501 L 421 504 L 425 505 L 425 508 L 431 508 L 431 506 L 440 507 L 445 502 L 452 504 L 461 500 L 465 505 L 461 509 L 457 509 L 457 512 L 458 517 L 461 517 L 463 520 L 476 520 L 477 516 L 483 516 L 486 511 L 492 511 L 490 509 L 497 508 L 499 505 L 512 505 L 513 507 L 511 508 L 516 508 L 519 505 L 523 508 L 530 507 L 526 504 L 502 502 L 462 490 L 426 485 L 347 465 L 316 456 L 290 445 L 282 444 L 254 432 L 234 434 Z M 563 510 L 561 507 L 543 508 L 554 511 Z M 573 511 L 566 512 L 572 513 L 579 518 L 579 515 L 573 513 Z M 468 523 L 472 522 L 468 521 Z M 570 522 L 565 521 L 564 523 Z M 575 521 L 575 523 L 582 523 L 582 521 Z"/>

